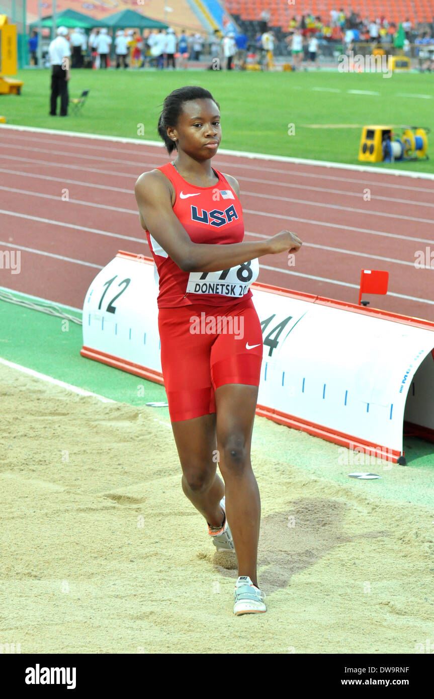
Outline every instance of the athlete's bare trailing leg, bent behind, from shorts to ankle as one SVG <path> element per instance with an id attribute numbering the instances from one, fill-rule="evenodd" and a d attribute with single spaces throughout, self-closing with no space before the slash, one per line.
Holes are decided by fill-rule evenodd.
<path id="1" fill-rule="evenodd" d="M 182 490 L 211 526 L 222 526 L 224 514 L 219 502 L 224 483 L 216 473 L 215 423 L 212 412 L 172 422 L 172 429 L 182 468 Z"/>

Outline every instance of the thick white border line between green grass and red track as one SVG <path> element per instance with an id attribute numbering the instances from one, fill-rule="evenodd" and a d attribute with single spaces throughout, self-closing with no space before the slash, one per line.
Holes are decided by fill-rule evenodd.
<path id="1" fill-rule="evenodd" d="M 114 143 L 136 143 L 138 145 L 150 145 L 152 147 L 164 147 L 164 144 L 156 140 L 140 140 L 139 138 L 120 138 L 119 136 L 101 136 L 99 134 L 85 134 L 80 131 L 56 131 L 56 129 L 40 129 L 38 127 L 22 127 L 15 124 L 0 124 L 1 130 L 7 131 L 12 129 L 15 131 L 35 132 L 38 134 L 55 134 L 56 136 L 71 136 L 73 138 L 90 138 L 93 140 L 106 140 Z M 4 145 L 4 143 L 2 143 Z M 327 160 L 313 160 L 308 158 L 291 158 L 284 155 L 270 155 L 266 153 L 255 153 L 243 150 L 227 150 L 220 148 L 219 153 L 229 155 L 231 157 L 241 157 L 259 160 L 270 160 L 283 163 L 296 163 L 300 165 L 312 165 L 314 167 L 325 168 L 340 168 L 342 170 L 352 170 L 356 172 L 373 172 L 379 175 L 394 175 L 395 177 L 405 176 L 410 178 L 421 178 L 425 180 L 434 180 L 434 173 L 419 173 L 407 172 L 405 170 L 380 170 L 377 167 L 367 167 L 363 165 L 349 165 L 347 163 L 336 163 Z M 262 169 L 262 168 L 261 168 Z"/>

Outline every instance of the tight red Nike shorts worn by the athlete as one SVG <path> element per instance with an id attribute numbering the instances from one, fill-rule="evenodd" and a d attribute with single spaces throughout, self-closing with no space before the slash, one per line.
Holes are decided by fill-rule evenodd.
<path id="1" fill-rule="evenodd" d="M 161 370 L 171 421 L 215 412 L 215 389 L 259 386 L 262 329 L 252 298 L 159 308 Z"/>

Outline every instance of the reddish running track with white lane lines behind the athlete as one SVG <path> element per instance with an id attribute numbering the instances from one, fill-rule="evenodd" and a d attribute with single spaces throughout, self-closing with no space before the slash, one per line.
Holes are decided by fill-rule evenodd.
<path id="1" fill-rule="evenodd" d="M 0 134 L 0 252 L 21 251 L 20 274 L 0 268 L 1 286 L 81 308 L 117 250 L 150 256 L 133 186 L 168 161 L 163 148 Z M 370 305 L 434 320 L 434 180 L 227 154 L 213 164 L 240 182 L 245 240 L 282 229 L 303 240 L 295 267 L 286 253 L 261 257 L 259 282 L 357 303 L 361 269 L 384 269 L 389 293 Z M 417 269 L 426 248 L 433 269 Z"/>

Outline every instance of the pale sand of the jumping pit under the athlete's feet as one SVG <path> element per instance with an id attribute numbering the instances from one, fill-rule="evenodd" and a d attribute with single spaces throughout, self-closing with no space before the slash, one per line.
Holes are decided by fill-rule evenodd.
<path id="1" fill-rule="evenodd" d="M 23 654 L 414 654 L 434 643 L 434 507 L 306 473 L 291 457 L 301 433 L 256 417 L 273 446 L 254 430 L 268 611 L 234 617 L 235 556 L 214 552 L 182 493 L 157 409 L 1 365 L 0 403 L 1 643 Z"/>

